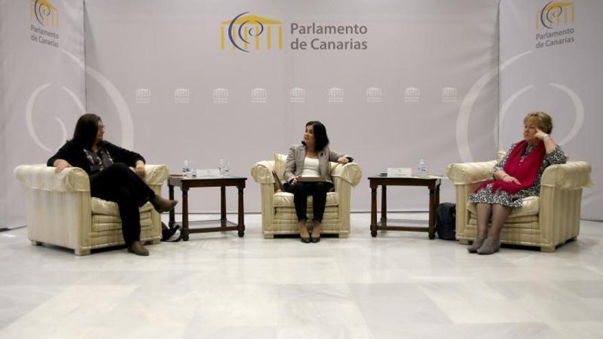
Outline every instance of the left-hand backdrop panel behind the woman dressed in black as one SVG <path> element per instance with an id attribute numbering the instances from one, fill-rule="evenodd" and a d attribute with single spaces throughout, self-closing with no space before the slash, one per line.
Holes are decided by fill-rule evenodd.
<path id="1" fill-rule="evenodd" d="M 0 0 L 0 228 L 25 224 L 14 167 L 45 163 L 86 107 L 84 1 L 32 3 Z"/>

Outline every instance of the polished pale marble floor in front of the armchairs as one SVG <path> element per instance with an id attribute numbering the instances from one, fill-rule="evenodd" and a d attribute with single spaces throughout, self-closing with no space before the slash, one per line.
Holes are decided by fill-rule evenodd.
<path id="1" fill-rule="evenodd" d="M 603 223 L 554 253 L 480 256 L 424 233 L 371 238 L 369 214 L 317 244 L 264 240 L 260 218 L 245 238 L 193 234 L 147 258 L 2 232 L 0 338 L 603 337 Z"/>

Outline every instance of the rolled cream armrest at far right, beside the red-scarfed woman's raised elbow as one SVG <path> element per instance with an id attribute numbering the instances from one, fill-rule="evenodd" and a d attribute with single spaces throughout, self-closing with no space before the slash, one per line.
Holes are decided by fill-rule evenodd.
<path id="1" fill-rule="evenodd" d="M 542 174 L 541 185 L 562 190 L 591 187 L 593 186 L 591 164 L 584 161 L 571 161 L 548 166 Z"/>

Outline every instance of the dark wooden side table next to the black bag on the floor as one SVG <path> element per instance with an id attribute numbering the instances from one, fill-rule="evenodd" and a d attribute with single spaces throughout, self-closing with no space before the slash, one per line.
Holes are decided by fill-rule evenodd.
<path id="1" fill-rule="evenodd" d="M 440 203 L 441 177 L 387 177 L 376 175 L 369 177 L 371 186 L 371 236 L 377 236 L 377 231 L 419 231 L 428 232 L 429 238 L 436 234 L 436 208 Z M 377 188 L 381 186 L 381 219 L 377 222 Z M 387 186 L 427 186 L 429 188 L 429 223 L 428 227 L 410 227 L 388 225 L 387 220 Z M 393 221 L 393 220 L 391 220 Z"/>

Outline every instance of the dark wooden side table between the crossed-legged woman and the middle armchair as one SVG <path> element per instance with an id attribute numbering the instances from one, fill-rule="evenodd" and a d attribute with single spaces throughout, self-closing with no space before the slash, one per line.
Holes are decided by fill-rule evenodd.
<path id="1" fill-rule="evenodd" d="M 188 241 L 190 233 L 238 231 L 238 236 L 245 235 L 245 215 L 243 212 L 243 189 L 245 189 L 246 177 L 183 177 L 182 175 L 170 175 L 168 177 L 169 199 L 174 199 L 174 186 L 182 190 L 182 240 Z M 238 190 L 238 223 L 232 223 L 226 219 L 226 186 L 236 186 Z M 220 226 L 190 229 L 188 227 L 188 190 L 197 187 L 219 187 L 220 188 Z M 195 221 L 195 225 L 211 225 L 216 221 Z M 169 213 L 169 225 L 175 225 L 175 213 Z"/>

